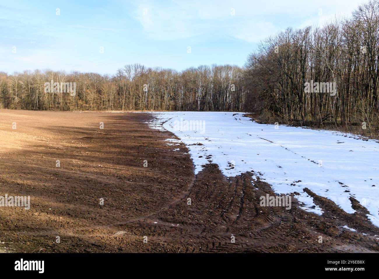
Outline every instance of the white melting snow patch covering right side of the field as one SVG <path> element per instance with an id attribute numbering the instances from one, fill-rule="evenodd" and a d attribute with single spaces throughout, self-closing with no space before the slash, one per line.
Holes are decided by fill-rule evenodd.
<path id="1" fill-rule="evenodd" d="M 298 127 L 258 124 L 243 113 L 152 112 L 154 129 L 166 129 L 188 147 L 195 172 L 209 162 L 226 176 L 251 171 L 278 194 L 295 197 L 306 211 L 323 209 L 303 191 L 309 188 L 347 213 L 354 213 L 349 197 L 370 212 L 379 227 L 379 143 L 350 134 Z M 169 139 L 175 149 L 177 140 Z"/>

